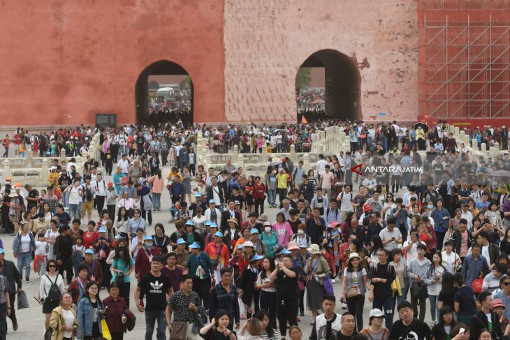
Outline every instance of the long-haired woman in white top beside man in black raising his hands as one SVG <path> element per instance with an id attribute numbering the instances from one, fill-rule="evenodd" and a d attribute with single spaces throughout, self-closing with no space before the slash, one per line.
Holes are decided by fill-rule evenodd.
<path id="1" fill-rule="evenodd" d="M 275 270 L 275 260 L 268 256 L 264 256 L 262 260 L 262 270 L 258 273 L 256 288 L 261 291 L 259 302 L 261 311 L 268 314 L 268 320 L 270 320 L 270 326 L 272 329 L 276 329 L 276 288 L 274 281 L 269 279 L 269 275 Z M 257 318 L 258 318 L 257 313 Z M 259 318 L 259 320 L 261 320 Z M 261 320 L 262 321 L 262 320 Z M 276 333 L 276 332 L 275 332 Z"/>

